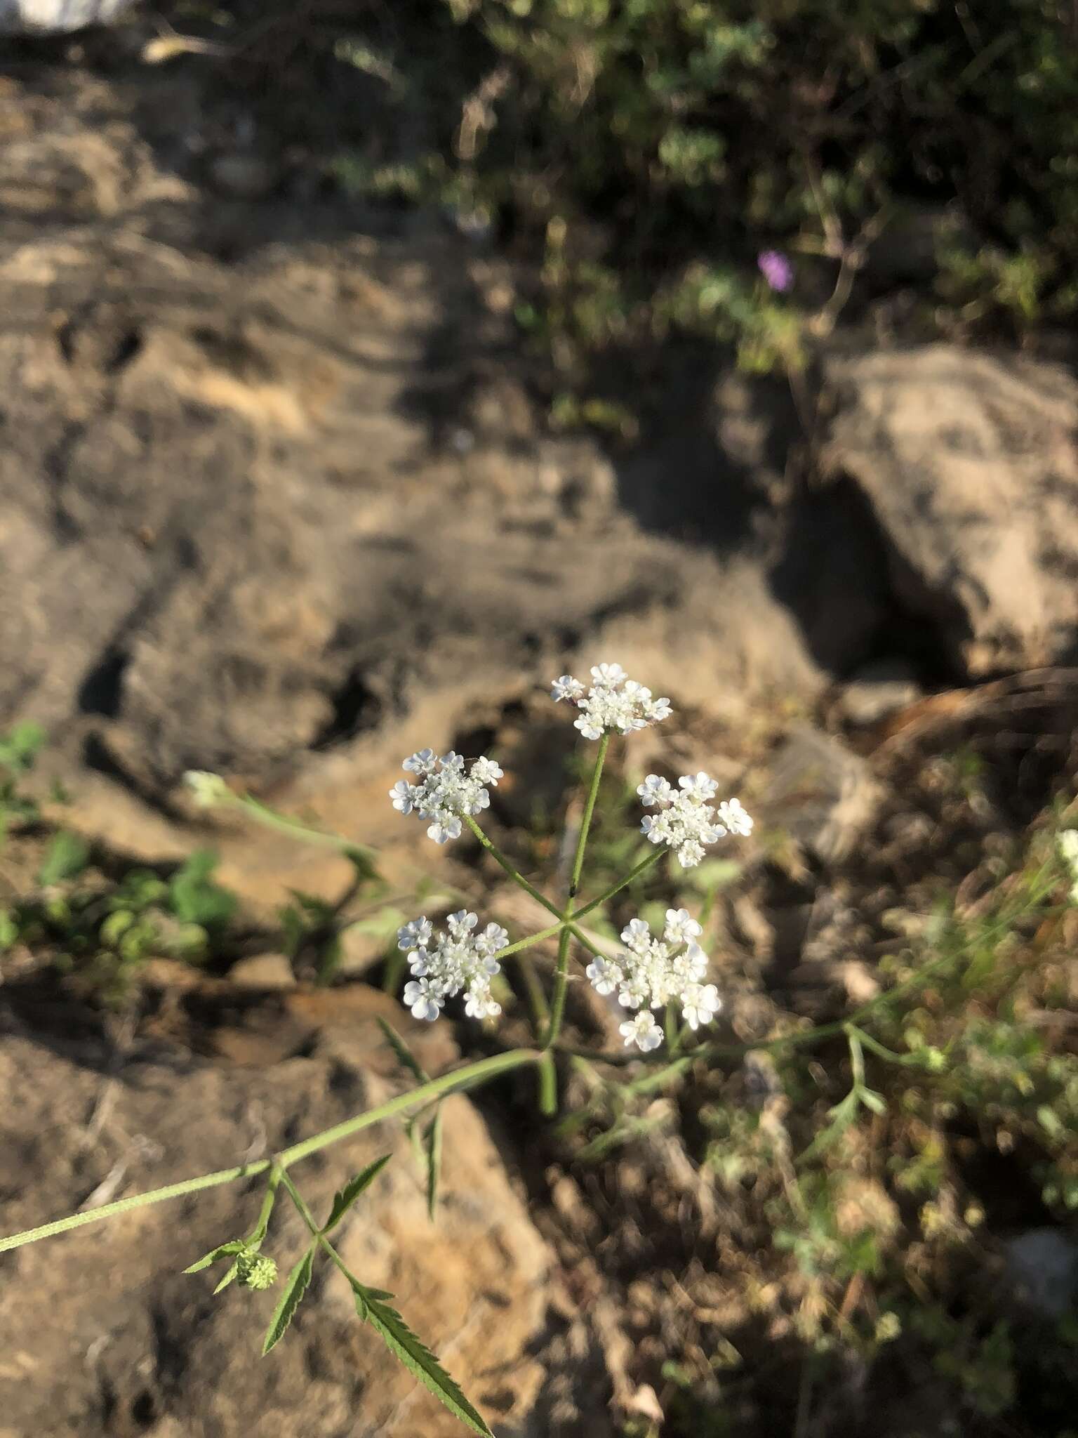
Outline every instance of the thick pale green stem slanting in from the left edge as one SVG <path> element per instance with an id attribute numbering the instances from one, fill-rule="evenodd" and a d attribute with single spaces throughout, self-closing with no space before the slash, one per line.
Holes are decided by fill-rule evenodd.
<path id="1" fill-rule="evenodd" d="M 236 1183 L 243 1178 L 254 1178 L 259 1173 L 267 1172 L 275 1165 L 283 1169 L 289 1163 L 298 1163 L 300 1159 L 308 1158 L 310 1153 L 318 1153 L 319 1149 L 329 1148 L 331 1143 L 339 1143 L 341 1139 L 351 1137 L 351 1135 L 358 1133 L 361 1129 L 369 1129 L 384 1119 L 404 1113 L 417 1103 L 425 1103 L 430 1099 L 453 1093 L 457 1089 L 469 1089 L 497 1074 L 509 1073 L 512 1068 L 539 1063 L 540 1058 L 542 1054 L 533 1048 L 515 1048 L 507 1054 L 493 1054 L 490 1058 L 480 1058 L 464 1068 L 456 1068 L 453 1073 L 431 1078 L 430 1083 L 421 1084 L 410 1093 L 398 1094 L 377 1109 L 369 1109 L 367 1113 L 345 1119 L 344 1123 L 336 1123 L 332 1129 L 325 1129 L 322 1133 L 315 1133 L 300 1143 L 293 1143 L 290 1149 L 283 1149 L 273 1158 L 257 1159 L 254 1163 L 241 1163 L 237 1168 L 218 1169 L 216 1173 L 203 1173 L 198 1178 L 184 1179 L 181 1183 L 168 1183 L 165 1188 L 151 1189 L 148 1194 L 132 1194 L 129 1198 L 116 1199 L 115 1204 L 103 1204 L 101 1208 L 93 1208 L 83 1214 L 69 1214 L 66 1218 L 56 1218 L 53 1222 L 42 1224 L 39 1228 L 27 1228 L 20 1234 L 11 1234 L 10 1238 L 0 1238 L 0 1252 L 9 1252 L 11 1248 L 22 1248 L 24 1244 L 37 1242 L 39 1238 L 66 1234 L 72 1228 L 82 1228 L 85 1224 L 99 1224 L 106 1218 L 115 1218 L 135 1208 L 148 1208 L 151 1204 L 164 1204 L 172 1198 L 184 1198 L 187 1194 L 198 1194 L 206 1188 L 220 1188 L 223 1183 Z"/>

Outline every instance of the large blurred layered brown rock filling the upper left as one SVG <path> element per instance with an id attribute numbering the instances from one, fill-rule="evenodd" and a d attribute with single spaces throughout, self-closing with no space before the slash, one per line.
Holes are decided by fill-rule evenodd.
<path id="1" fill-rule="evenodd" d="M 709 707 L 822 684 L 750 526 L 719 522 L 756 463 L 733 421 L 631 482 L 548 436 L 496 266 L 287 175 L 207 191 L 206 68 L 116 65 L 20 70 L 0 147 L 0 718 L 46 725 L 86 827 L 152 857 L 106 788 L 158 821 L 187 768 L 287 802 L 346 754 L 355 795 L 573 650 Z M 378 837 L 385 797 L 346 811 Z"/>

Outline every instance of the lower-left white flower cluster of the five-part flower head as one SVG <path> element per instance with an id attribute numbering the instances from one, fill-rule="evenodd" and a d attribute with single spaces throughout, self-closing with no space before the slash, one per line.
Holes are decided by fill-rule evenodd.
<path id="1" fill-rule="evenodd" d="M 397 948 L 411 953 L 408 968 L 414 978 L 404 985 L 404 1002 L 414 1018 L 436 1020 L 446 999 L 467 992 L 464 1012 L 469 1018 L 494 1018 L 502 1005 L 490 997 L 490 979 L 500 965 L 494 955 L 509 943 L 497 923 L 482 933 L 474 913 L 459 909 L 446 920 L 446 933 L 436 933 L 430 919 L 413 919 L 397 930 Z"/>

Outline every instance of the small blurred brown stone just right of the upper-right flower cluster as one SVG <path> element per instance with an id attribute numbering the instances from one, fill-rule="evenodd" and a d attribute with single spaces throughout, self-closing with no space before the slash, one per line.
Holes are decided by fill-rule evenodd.
<path id="1" fill-rule="evenodd" d="M 835 863 L 865 834 L 881 795 L 862 758 L 829 735 L 798 726 L 770 758 L 760 812 L 821 863 Z"/>

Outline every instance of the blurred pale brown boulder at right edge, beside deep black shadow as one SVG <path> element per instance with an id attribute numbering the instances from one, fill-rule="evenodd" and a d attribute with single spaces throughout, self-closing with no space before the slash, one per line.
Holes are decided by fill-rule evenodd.
<path id="1" fill-rule="evenodd" d="M 878 529 L 894 597 L 970 677 L 1078 638 L 1078 384 L 953 345 L 832 360 L 825 463 Z"/>

